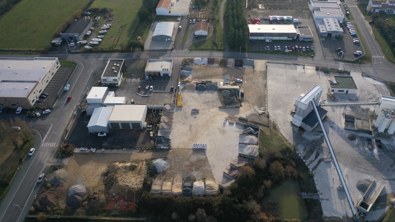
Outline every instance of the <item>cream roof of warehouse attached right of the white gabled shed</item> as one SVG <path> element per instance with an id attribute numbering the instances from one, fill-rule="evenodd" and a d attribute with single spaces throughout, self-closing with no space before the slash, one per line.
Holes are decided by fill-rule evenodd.
<path id="1" fill-rule="evenodd" d="M 108 121 L 141 122 L 146 110 L 146 104 L 116 104 Z"/>

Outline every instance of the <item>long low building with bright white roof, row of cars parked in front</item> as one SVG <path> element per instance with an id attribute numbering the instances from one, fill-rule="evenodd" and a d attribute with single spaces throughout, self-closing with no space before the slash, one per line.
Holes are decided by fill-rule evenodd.
<path id="1" fill-rule="evenodd" d="M 293 40 L 296 29 L 293 24 L 249 24 L 250 40 Z"/>

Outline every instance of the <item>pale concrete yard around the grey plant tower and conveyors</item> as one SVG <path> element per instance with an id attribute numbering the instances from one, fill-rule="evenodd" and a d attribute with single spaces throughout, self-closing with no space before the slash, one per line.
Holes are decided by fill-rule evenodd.
<path id="1" fill-rule="evenodd" d="M 305 66 L 303 64 L 280 64 L 268 63 L 268 109 L 270 116 L 278 123 L 280 132 L 294 145 L 303 159 L 306 160 L 308 167 L 314 173 L 314 179 L 318 192 L 322 192 L 329 197 L 328 200 L 322 199 L 322 209 L 324 217 L 329 219 L 350 218 L 352 212 L 343 188 L 340 185 L 337 171 L 331 162 L 324 162 L 328 156 L 328 148 L 324 139 L 314 140 L 311 134 L 300 132 L 293 126 L 290 121 L 292 116 L 290 111 L 294 109 L 294 103 L 299 94 L 306 93 L 314 85 L 324 87 L 323 96 L 320 100 L 327 100 L 326 92 L 328 87 L 328 76 L 333 73 L 324 73 L 316 71 L 314 66 Z M 351 73 L 354 82 L 358 87 L 358 93 L 352 94 L 335 94 L 338 102 L 345 101 L 373 101 L 378 100 L 381 94 L 389 95 L 384 83 L 373 80 L 369 77 L 363 77 L 359 73 Z M 364 180 L 385 184 L 382 194 L 391 194 L 395 190 L 395 182 L 392 180 L 395 173 L 388 166 L 394 164 L 393 150 L 395 149 L 393 139 L 383 140 L 386 149 L 379 150 L 374 148 L 369 150 L 365 138 L 371 138 L 371 135 L 362 134 L 344 130 L 344 112 L 351 110 L 362 118 L 369 118 L 370 113 L 374 111 L 374 106 L 331 106 L 323 107 L 328 111 L 324 119 L 325 130 L 327 130 L 329 140 L 335 151 L 337 160 L 346 180 L 354 207 L 362 198 L 366 189 L 362 189 L 360 184 Z M 319 128 L 319 127 L 318 127 Z M 317 128 L 315 129 L 315 131 Z M 314 130 L 313 130 L 314 132 Z M 303 135 L 301 135 L 301 133 Z M 348 139 L 350 134 L 356 135 L 356 139 Z M 369 182 L 369 183 L 370 183 Z M 393 195 L 388 195 L 387 199 Z M 379 198 L 380 199 L 380 198 Z M 384 199 L 384 200 L 383 200 Z M 369 214 L 369 219 L 377 220 L 384 213 L 386 198 Z"/>

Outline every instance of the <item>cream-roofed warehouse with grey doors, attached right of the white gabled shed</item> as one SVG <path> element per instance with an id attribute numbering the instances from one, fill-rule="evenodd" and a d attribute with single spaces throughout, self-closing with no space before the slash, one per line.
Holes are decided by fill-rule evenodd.
<path id="1" fill-rule="evenodd" d="M 111 129 L 143 129 L 146 116 L 146 104 L 114 105 L 108 122 Z"/>

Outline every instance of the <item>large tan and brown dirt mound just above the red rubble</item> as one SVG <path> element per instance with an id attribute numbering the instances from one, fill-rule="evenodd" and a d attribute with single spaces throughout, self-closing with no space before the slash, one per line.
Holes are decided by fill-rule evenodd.
<path id="1" fill-rule="evenodd" d="M 103 183 L 108 194 L 122 196 L 128 201 L 137 201 L 142 194 L 146 162 L 112 163 L 103 173 Z"/>

